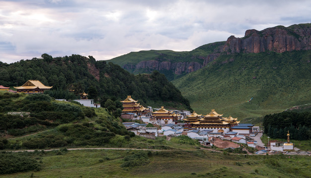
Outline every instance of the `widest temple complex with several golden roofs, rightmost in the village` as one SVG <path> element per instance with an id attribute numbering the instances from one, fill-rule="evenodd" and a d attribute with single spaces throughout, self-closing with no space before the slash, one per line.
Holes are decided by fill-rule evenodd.
<path id="1" fill-rule="evenodd" d="M 214 109 L 205 116 L 192 113 L 187 117 L 188 118 L 184 119 L 187 123 L 185 128 L 189 130 L 198 129 L 201 131 L 213 130 L 213 133 L 228 133 L 231 127 L 239 123 L 237 118 L 231 116 L 228 118 L 223 117 L 223 114 L 218 114 Z"/>

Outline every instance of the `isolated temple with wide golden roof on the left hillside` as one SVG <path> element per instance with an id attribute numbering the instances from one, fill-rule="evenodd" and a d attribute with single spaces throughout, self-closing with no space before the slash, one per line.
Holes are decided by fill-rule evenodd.
<path id="1" fill-rule="evenodd" d="M 24 85 L 20 87 L 14 87 L 17 89 L 17 92 L 24 92 L 27 94 L 33 94 L 33 93 L 43 93 L 47 89 L 51 89 L 52 87 L 48 87 L 43 85 L 38 80 L 28 80 Z"/>

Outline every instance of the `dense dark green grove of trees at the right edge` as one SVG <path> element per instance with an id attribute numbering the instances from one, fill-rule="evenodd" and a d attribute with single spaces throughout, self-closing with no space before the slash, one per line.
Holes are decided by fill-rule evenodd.
<path id="1" fill-rule="evenodd" d="M 281 112 L 266 115 L 263 119 L 264 133 L 273 138 L 287 138 L 287 132 L 291 139 L 308 140 L 311 136 L 310 112 Z"/>

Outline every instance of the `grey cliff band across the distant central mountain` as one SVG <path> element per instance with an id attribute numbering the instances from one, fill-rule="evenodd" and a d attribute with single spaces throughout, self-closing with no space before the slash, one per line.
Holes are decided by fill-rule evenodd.
<path id="1" fill-rule="evenodd" d="M 190 73 L 196 71 L 203 67 L 202 64 L 198 62 L 174 62 L 171 63 L 169 61 L 157 61 L 157 60 L 148 60 L 141 61 L 138 64 L 125 64 L 122 66 L 126 70 L 139 70 L 139 69 L 152 69 L 158 71 L 164 70 L 173 70 L 176 75 L 180 75 L 182 73 Z"/>

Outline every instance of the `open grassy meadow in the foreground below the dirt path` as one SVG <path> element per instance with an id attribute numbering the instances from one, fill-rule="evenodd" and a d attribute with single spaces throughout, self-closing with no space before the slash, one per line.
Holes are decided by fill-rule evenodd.
<path id="1" fill-rule="evenodd" d="M 2 153 L 3 154 L 3 153 Z M 25 153 L 26 154 L 26 153 Z M 29 154 L 29 153 L 27 153 Z M 141 166 L 121 167 L 127 155 L 148 155 Z M 311 157 L 228 155 L 205 150 L 37 151 L 30 154 L 41 171 L 2 175 L 3 178 L 310 178 Z M 132 160 L 133 161 L 133 160 Z"/>

